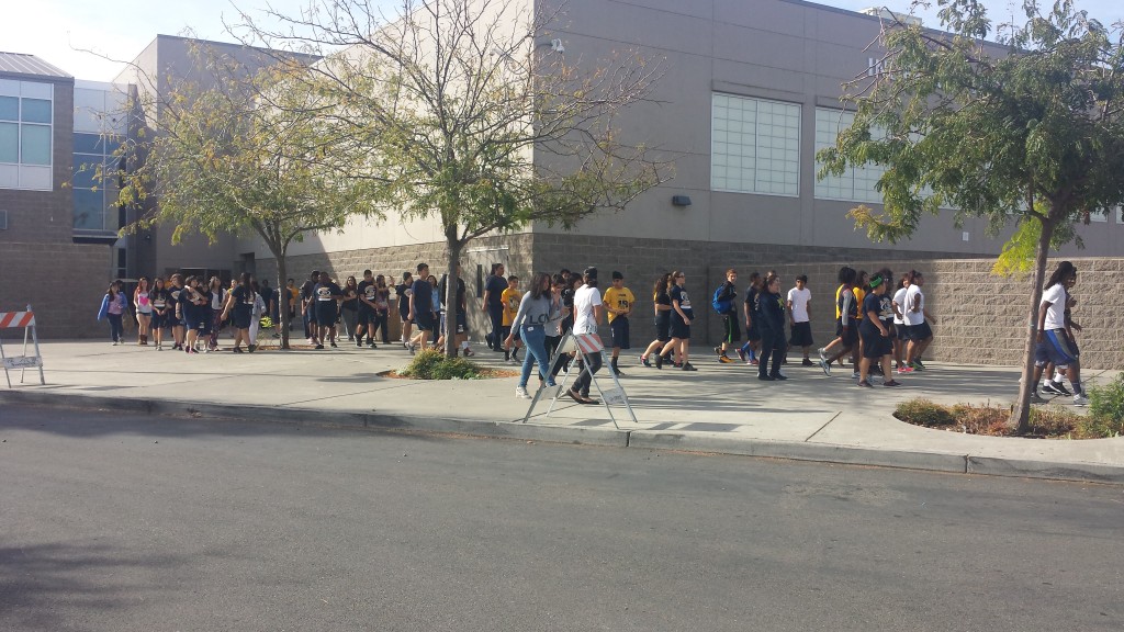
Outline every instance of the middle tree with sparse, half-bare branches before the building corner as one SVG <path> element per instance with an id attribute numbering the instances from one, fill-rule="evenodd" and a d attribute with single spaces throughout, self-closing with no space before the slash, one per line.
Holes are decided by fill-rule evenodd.
<path id="1" fill-rule="evenodd" d="M 405 217 L 434 218 L 456 277 L 472 240 L 531 223 L 571 227 L 619 210 L 668 178 L 615 117 L 645 101 L 658 65 L 636 54 L 566 56 L 551 33 L 552 2 L 406 0 L 389 19 L 377 3 L 326 0 L 255 42 L 326 54 L 309 74 L 348 146 L 357 177 Z M 342 52 L 341 52 L 342 51 Z M 446 305 L 455 305 L 456 283 Z M 450 319 L 452 322 L 452 319 Z M 455 350 L 447 336 L 446 351 Z"/>

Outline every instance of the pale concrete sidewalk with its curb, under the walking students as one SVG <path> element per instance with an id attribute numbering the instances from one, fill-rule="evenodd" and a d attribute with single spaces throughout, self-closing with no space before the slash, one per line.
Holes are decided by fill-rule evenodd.
<path id="1" fill-rule="evenodd" d="M 40 344 L 47 385 L 28 370 L 25 383 L 0 385 L 0 401 L 93 406 L 153 415 L 192 415 L 312 425 L 450 432 L 525 440 L 749 454 L 1003 476 L 1124 482 L 1124 437 L 1058 441 L 988 437 L 922 428 L 891 416 L 898 401 L 1008 404 L 1017 395 L 1013 368 L 932 363 L 901 376 L 901 388 L 854 386 L 850 370 L 831 377 L 818 367 L 789 363 L 785 382 L 762 382 L 756 368 L 718 364 L 713 353 L 698 372 L 638 367 L 623 358 L 622 383 L 640 423 L 604 406 L 559 399 L 545 416 L 541 403 L 514 396 L 516 378 L 416 381 L 381 377 L 404 367 L 400 345 L 378 350 L 263 350 L 188 355 L 134 344 Z M 481 364 L 518 370 L 502 355 L 480 351 Z M 4 350 L 17 352 L 8 338 Z M 1103 382 L 1115 372 L 1085 376 Z M 532 386 L 537 380 L 532 378 Z M 606 378 L 604 385 L 611 385 Z M 1064 404 L 1062 404 L 1064 403 Z M 1069 398 L 1051 405 L 1070 406 Z M 2 417 L 2 415 L 0 415 Z M 158 423 L 158 422 L 157 422 Z M 0 419 L 2 430 L 2 419 Z"/>

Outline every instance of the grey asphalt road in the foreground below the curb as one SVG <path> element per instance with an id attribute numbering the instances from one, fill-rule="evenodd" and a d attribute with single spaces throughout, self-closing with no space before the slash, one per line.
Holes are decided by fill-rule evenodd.
<path id="1" fill-rule="evenodd" d="M 1124 629 L 1122 487 L 24 406 L 0 441 L 3 631 Z"/>

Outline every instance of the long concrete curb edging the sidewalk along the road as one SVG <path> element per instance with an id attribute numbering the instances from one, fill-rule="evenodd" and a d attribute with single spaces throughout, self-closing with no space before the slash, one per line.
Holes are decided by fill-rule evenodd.
<path id="1" fill-rule="evenodd" d="M 940 471 L 1015 478 L 1076 480 L 1124 484 L 1124 466 L 1063 461 L 1035 461 L 996 457 L 976 457 L 948 452 L 878 450 L 831 443 L 771 441 L 722 437 L 643 430 L 608 430 L 581 426 L 542 426 L 519 421 L 482 422 L 420 416 L 397 416 L 378 412 L 312 410 L 237 404 L 184 405 L 127 397 L 107 397 L 52 391 L 0 391 L 0 403 L 37 404 L 75 408 L 110 408 L 180 417 L 281 423 L 307 427 L 356 428 L 374 432 L 448 433 L 492 439 L 543 441 L 574 445 L 636 448 L 710 452 L 792 461 L 815 461 L 852 466 L 873 466 L 909 470 Z"/>

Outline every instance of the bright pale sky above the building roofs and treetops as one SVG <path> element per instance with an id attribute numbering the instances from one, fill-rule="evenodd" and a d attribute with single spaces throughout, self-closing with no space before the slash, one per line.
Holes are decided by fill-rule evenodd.
<path id="1" fill-rule="evenodd" d="M 400 6 L 400 0 L 372 1 L 387 10 Z M 110 3 L 6 0 L 0 51 L 36 55 L 76 79 L 110 81 L 124 67 L 123 62 L 133 60 L 156 35 L 185 35 L 187 29 L 191 29 L 197 37 L 234 42 L 224 26 L 224 18 L 228 24 L 236 24 L 238 9 L 242 9 L 255 19 L 263 19 L 268 3 L 282 13 L 299 15 L 309 0 L 117 0 Z M 885 6 L 906 11 L 909 7 L 908 0 L 821 0 L 818 3 L 850 10 Z M 985 0 L 985 6 L 997 21 L 1018 7 L 1010 0 Z M 1121 0 L 1077 0 L 1077 6 L 1106 26 L 1124 19 Z M 936 26 L 935 15 L 935 11 L 923 13 L 925 24 Z"/>

